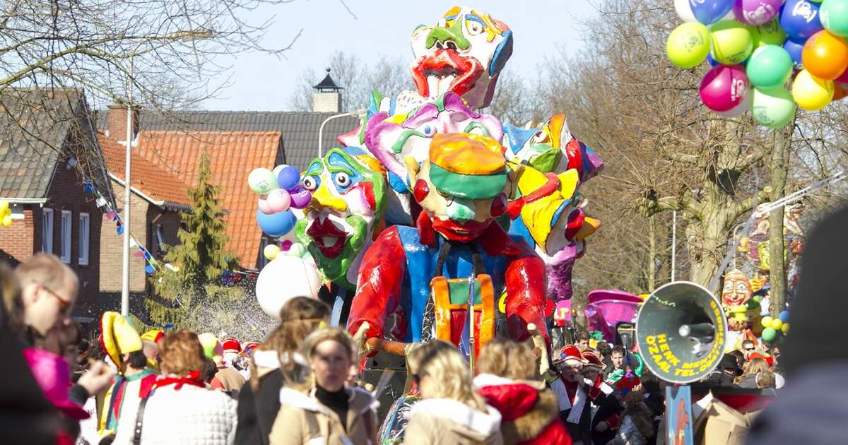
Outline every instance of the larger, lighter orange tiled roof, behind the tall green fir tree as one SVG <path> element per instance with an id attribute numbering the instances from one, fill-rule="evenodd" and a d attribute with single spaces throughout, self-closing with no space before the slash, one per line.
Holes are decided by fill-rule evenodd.
<path id="1" fill-rule="evenodd" d="M 255 269 L 262 231 L 256 225 L 257 197 L 248 187 L 248 175 L 258 167 L 273 167 L 281 137 L 280 131 L 142 131 L 137 151 L 193 185 L 198 160 L 208 150 L 212 183 L 220 186 L 221 207 L 229 212 L 227 248 L 237 253 L 243 268 Z"/>

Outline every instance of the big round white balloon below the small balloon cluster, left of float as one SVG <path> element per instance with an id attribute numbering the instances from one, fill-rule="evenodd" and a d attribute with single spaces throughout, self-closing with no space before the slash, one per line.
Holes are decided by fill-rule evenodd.
<path id="1" fill-rule="evenodd" d="M 295 297 L 318 298 L 321 277 L 315 263 L 291 255 L 280 255 L 265 264 L 256 278 L 259 307 L 276 320 L 280 309 Z"/>

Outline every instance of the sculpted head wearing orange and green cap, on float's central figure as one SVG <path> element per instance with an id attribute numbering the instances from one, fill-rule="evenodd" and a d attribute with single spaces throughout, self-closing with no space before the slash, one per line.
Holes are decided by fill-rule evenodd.
<path id="1" fill-rule="evenodd" d="M 513 192 L 503 147 L 487 136 L 437 134 L 414 175 L 413 196 L 432 229 L 450 241 L 471 242 L 506 212 Z M 419 220 L 419 225 L 421 220 Z"/>

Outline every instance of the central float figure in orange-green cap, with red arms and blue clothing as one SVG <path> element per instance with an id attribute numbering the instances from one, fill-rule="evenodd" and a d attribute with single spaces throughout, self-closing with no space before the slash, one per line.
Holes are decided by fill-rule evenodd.
<path id="1" fill-rule="evenodd" d="M 438 302 L 467 304 L 469 292 L 461 292 L 468 289 L 471 276 L 474 298 L 481 303 L 506 291 L 511 338 L 527 339 L 528 323 L 546 325 L 544 261 L 495 222 L 505 214 L 512 173 L 494 139 L 436 135 L 428 159 L 410 171 L 413 194 L 423 210 L 416 227 L 388 228 L 365 253 L 349 331 L 355 333 L 367 322 L 366 336 L 382 338 L 385 320 L 399 314 L 401 322 L 395 324 L 399 329 L 393 335 L 404 342 L 433 337 L 460 342 L 466 314 L 439 307 Z M 477 347 L 494 334 L 486 328 L 494 317 L 494 304 L 481 309 L 475 317 L 481 340 Z M 436 320 L 439 314 L 442 320 Z"/>

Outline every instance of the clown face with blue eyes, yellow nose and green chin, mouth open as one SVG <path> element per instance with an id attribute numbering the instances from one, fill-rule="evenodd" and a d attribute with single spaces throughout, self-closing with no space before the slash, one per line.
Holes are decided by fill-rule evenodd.
<path id="1" fill-rule="evenodd" d="M 312 202 L 295 225 L 298 242 L 326 280 L 353 290 L 362 253 L 382 220 L 382 169 L 358 148 L 333 148 L 312 161 L 301 185 L 312 192 Z"/>

